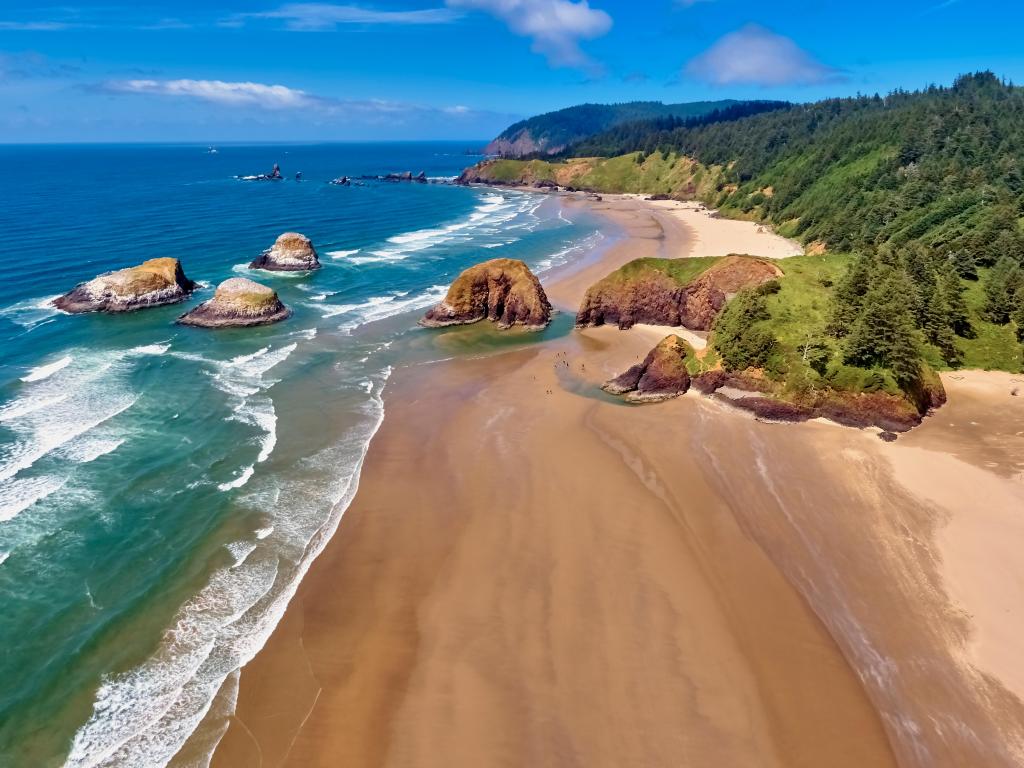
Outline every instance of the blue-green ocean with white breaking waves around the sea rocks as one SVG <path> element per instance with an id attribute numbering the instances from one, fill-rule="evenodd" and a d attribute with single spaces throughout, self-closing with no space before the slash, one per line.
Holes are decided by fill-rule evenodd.
<path id="1" fill-rule="evenodd" d="M 524 191 L 327 183 L 451 178 L 478 159 L 464 151 L 0 147 L 0 765 L 167 765 L 211 707 L 229 712 L 239 669 L 333 535 L 390 373 L 539 338 L 416 319 L 465 267 L 507 256 L 543 275 L 600 245 L 601 222 Z M 285 180 L 237 178 L 273 163 Z M 322 269 L 246 267 L 288 230 L 313 241 Z M 158 256 L 200 282 L 190 300 L 122 315 L 49 306 Z M 238 274 L 293 316 L 174 325 Z"/>

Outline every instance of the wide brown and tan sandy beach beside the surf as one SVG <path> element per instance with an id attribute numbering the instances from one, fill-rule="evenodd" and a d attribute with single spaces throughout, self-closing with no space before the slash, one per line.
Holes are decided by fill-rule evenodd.
<path id="1" fill-rule="evenodd" d="M 593 208 L 625 237 L 545 275 L 562 311 L 634 258 L 795 248 Z M 1024 765 L 1021 377 L 947 376 L 892 444 L 600 393 L 664 333 L 397 370 L 213 765 Z"/>

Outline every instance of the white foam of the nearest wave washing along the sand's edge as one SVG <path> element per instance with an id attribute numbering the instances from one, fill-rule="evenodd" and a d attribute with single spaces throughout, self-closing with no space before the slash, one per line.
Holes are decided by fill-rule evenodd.
<path id="1" fill-rule="evenodd" d="M 383 420 L 380 393 L 389 374 L 384 371 L 377 378 L 361 425 L 297 469 L 308 473 L 308 481 L 280 489 L 279 504 L 269 509 L 282 510 L 282 516 L 267 554 L 257 549 L 214 572 L 207 587 L 178 610 L 152 658 L 102 680 L 92 716 L 75 735 L 68 768 L 164 766 L 178 752 L 224 681 L 234 679 L 266 642 L 337 529 L 358 486 L 370 439 Z M 253 502 L 262 506 L 265 493 L 255 488 Z"/>

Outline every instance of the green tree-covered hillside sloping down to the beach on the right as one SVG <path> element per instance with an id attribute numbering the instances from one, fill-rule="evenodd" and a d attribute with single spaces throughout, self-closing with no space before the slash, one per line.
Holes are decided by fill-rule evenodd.
<path id="1" fill-rule="evenodd" d="M 951 87 L 757 115 L 624 124 L 554 160 L 477 168 L 496 182 L 696 199 L 765 221 L 809 255 L 776 294 L 740 294 L 712 341 L 790 402 L 902 393 L 933 372 L 1019 372 L 1024 343 L 1024 89 Z"/>

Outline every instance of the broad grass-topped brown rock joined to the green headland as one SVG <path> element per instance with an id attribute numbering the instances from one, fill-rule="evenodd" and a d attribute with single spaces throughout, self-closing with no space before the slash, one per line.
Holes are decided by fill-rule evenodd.
<path id="1" fill-rule="evenodd" d="M 713 261 L 694 274 L 693 267 Z M 577 326 L 637 323 L 708 331 L 735 293 L 781 276 L 771 261 L 753 256 L 721 259 L 637 259 L 590 287 Z"/>

